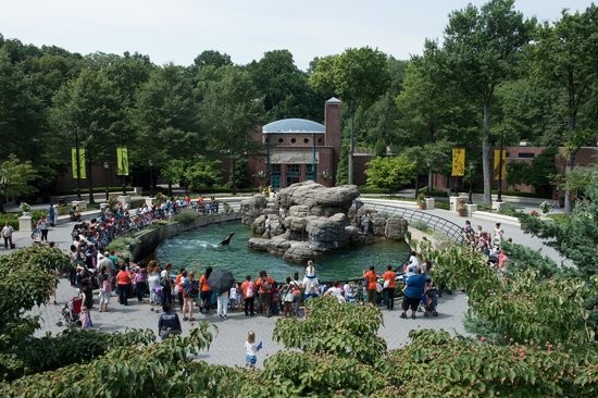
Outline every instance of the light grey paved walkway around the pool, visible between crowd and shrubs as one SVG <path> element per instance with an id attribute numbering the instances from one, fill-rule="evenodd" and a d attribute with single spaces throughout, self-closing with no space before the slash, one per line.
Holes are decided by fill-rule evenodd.
<path id="1" fill-rule="evenodd" d="M 389 201 L 397 204 L 396 201 Z M 401 203 L 404 207 L 414 208 L 414 203 Z M 438 216 L 443 216 L 459 225 L 464 223 L 464 217 L 459 217 L 457 214 L 452 214 L 445 210 L 429 210 Z M 486 231 L 491 231 L 494 223 L 491 222 L 477 222 L 475 217 L 472 220 L 472 224 L 482 225 Z M 48 237 L 49 240 L 53 240 L 59 248 L 68 250 L 71 245 L 71 231 L 73 223 L 66 223 L 58 225 L 50 229 Z M 528 245 L 533 248 L 543 248 L 541 241 L 533 238 L 528 235 L 524 235 L 519 227 L 511 225 L 503 225 L 506 236 L 512 237 L 514 241 L 523 245 Z M 17 247 L 24 247 L 32 245 L 29 233 L 16 232 L 14 240 Z M 543 251 L 546 249 L 543 248 Z M 0 250 L 0 253 L 7 252 Z M 547 252 L 548 253 L 548 252 Z M 551 256 L 552 257 L 552 256 Z M 558 256 L 557 256 L 558 257 Z M 298 268 L 299 270 L 300 268 Z M 258 268 L 256 269 L 258 272 Z M 47 332 L 58 333 L 63 329 L 57 325 L 59 321 L 62 321 L 60 310 L 68 299 L 76 295 L 74 288 L 70 286 L 66 279 L 61 279 L 57 296 L 58 304 L 46 304 L 39 309 L 35 309 L 34 313 L 41 315 L 42 324 L 41 328 L 36 332 L 36 335 L 41 336 Z M 98 299 L 96 298 L 96 308 Z M 399 348 L 409 343 L 408 334 L 412 328 L 435 328 L 446 329 L 456 333 L 465 333 L 462 324 L 462 320 L 468 310 L 468 298 L 464 294 L 456 293 L 453 296 L 444 296 L 439 298 L 438 303 L 438 318 L 423 318 L 420 316 L 416 320 L 402 320 L 399 318 L 400 310 L 395 311 L 383 310 L 384 325 L 379 329 L 379 335 L 387 341 L 388 348 Z M 399 301 L 397 301 L 399 303 Z M 110 304 L 111 312 L 99 313 L 96 310 L 91 311 L 92 321 L 95 327 L 107 332 L 124 331 L 126 327 L 135 328 L 157 328 L 159 314 L 150 310 L 150 306 L 147 303 L 137 303 L 136 299 L 129 300 L 128 307 L 122 307 L 116 303 L 116 297 L 112 298 Z M 209 363 L 225 364 L 225 365 L 242 365 L 244 364 L 244 343 L 248 331 L 254 331 L 257 338 L 263 341 L 263 350 L 260 351 L 258 366 L 263 365 L 263 359 L 267 356 L 275 353 L 282 347 L 272 340 L 272 331 L 277 318 L 264 318 L 254 316 L 247 318 L 242 312 L 229 313 L 228 319 L 222 320 L 212 312 L 210 315 L 196 314 L 198 321 L 208 321 L 212 325 L 217 327 L 217 332 L 214 329 L 215 338 L 210 347 L 210 350 L 202 351 L 200 358 Z M 184 334 L 187 334 L 196 323 L 184 322 Z"/>

